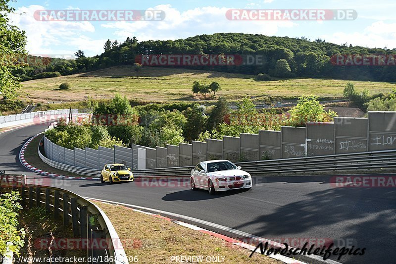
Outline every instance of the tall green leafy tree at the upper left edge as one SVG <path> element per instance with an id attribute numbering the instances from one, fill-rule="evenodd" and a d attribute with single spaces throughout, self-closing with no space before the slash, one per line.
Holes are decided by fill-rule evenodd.
<path id="1" fill-rule="evenodd" d="M 3 97 L 15 98 L 19 81 L 12 70 L 21 67 L 18 57 L 26 55 L 26 36 L 23 30 L 9 24 L 8 15 L 15 11 L 8 5 L 9 0 L 0 1 L 0 92 Z"/>

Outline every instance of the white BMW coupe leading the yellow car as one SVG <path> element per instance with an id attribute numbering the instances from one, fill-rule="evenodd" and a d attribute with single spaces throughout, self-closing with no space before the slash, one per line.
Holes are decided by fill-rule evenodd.
<path id="1" fill-rule="evenodd" d="M 235 189 L 249 190 L 251 184 L 250 174 L 226 159 L 202 161 L 190 176 L 192 190 L 204 189 L 210 194 Z"/>

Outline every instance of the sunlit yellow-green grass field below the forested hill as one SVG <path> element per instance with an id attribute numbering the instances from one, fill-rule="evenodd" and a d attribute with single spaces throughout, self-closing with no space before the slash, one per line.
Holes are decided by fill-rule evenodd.
<path id="1" fill-rule="evenodd" d="M 119 93 L 129 99 L 155 102 L 203 100 L 203 96 L 195 97 L 192 94 L 195 80 L 205 84 L 218 82 L 223 90 L 216 95 L 228 99 L 240 99 L 245 95 L 289 97 L 314 94 L 342 97 L 343 89 L 348 82 L 311 78 L 259 82 L 254 80 L 253 75 L 159 67 L 144 67 L 137 73 L 132 66 L 116 66 L 88 73 L 26 81 L 22 83 L 20 97 L 29 97 L 36 102 L 65 102 L 84 100 L 85 96 L 109 98 Z M 72 89 L 59 91 L 57 88 L 62 82 L 71 83 Z M 356 90 L 368 88 L 371 93 L 386 92 L 396 87 L 395 83 L 387 82 L 352 83 Z"/>

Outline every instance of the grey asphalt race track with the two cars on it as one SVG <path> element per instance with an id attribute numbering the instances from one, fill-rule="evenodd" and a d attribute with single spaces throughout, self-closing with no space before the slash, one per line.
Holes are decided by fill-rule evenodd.
<path id="1" fill-rule="evenodd" d="M 0 170 L 41 177 L 23 167 L 18 154 L 28 138 L 45 128 L 33 125 L 0 134 Z M 363 256 L 346 255 L 341 263 L 395 263 L 396 188 L 332 188 L 329 180 L 329 176 L 259 177 L 250 191 L 214 196 L 192 191 L 187 184 L 109 185 L 52 178 L 45 182 L 81 196 L 179 213 L 271 240 L 324 238 L 340 247 L 366 248 Z"/>

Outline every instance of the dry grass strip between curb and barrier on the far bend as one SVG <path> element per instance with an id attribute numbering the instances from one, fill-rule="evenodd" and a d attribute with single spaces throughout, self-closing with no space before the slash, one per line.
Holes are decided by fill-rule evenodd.
<path id="1" fill-rule="evenodd" d="M 65 176 L 82 177 L 82 175 L 79 175 L 79 174 L 63 171 L 60 169 L 55 169 L 55 168 L 49 166 L 47 163 L 44 163 L 43 160 L 41 160 L 41 158 L 37 154 L 37 148 L 38 148 L 39 143 L 43 137 L 44 137 L 44 135 L 40 135 L 40 136 L 36 137 L 35 139 L 33 139 L 29 143 L 29 145 L 27 146 L 25 153 L 24 153 L 26 162 L 28 162 L 33 167 L 39 168 L 41 170 L 44 170 L 44 171 L 47 171 L 50 173 L 60 174 L 60 175 L 65 175 Z M 99 176 L 100 175 L 98 175 L 98 177 Z"/>

